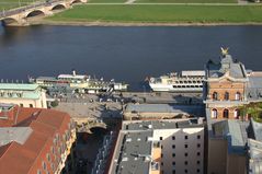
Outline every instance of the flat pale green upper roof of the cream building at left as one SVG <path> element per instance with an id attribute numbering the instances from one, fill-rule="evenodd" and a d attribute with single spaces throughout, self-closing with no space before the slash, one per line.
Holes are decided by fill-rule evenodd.
<path id="1" fill-rule="evenodd" d="M 38 86 L 30 83 L 0 83 L 0 90 L 35 91 Z"/>

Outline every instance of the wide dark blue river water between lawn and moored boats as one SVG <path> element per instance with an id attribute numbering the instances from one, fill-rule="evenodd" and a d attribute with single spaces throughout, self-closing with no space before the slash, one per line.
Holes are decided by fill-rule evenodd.
<path id="1" fill-rule="evenodd" d="M 262 70 L 262 26 L 0 27 L 0 79 L 88 73 L 141 90 L 148 76 L 203 69 L 229 47 L 246 68 Z"/>

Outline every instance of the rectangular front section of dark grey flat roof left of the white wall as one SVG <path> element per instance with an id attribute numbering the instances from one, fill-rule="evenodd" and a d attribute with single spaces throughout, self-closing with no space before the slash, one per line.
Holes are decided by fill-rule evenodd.
<path id="1" fill-rule="evenodd" d="M 112 174 L 146 174 L 151 163 L 152 131 L 119 134 L 122 143 L 117 146 Z"/>

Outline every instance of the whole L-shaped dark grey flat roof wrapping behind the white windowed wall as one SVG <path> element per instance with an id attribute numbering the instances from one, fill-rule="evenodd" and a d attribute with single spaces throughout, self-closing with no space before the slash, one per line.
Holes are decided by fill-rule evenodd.
<path id="1" fill-rule="evenodd" d="M 122 130 L 112 159 L 113 174 L 146 174 L 151 169 L 152 147 L 158 142 L 153 134 L 158 130 L 200 127 L 196 119 L 133 120 L 123 121 Z M 186 126 L 185 126 L 186 125 Z M 155 159 L 157 160 L 157 159 Z"/>

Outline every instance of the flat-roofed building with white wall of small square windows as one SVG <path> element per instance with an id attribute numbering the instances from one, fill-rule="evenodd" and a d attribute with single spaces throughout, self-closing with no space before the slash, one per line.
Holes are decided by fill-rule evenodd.
<path id="1" fill-rule="evenodd" d="M 109 173 L 203 174 L 204 126 L 195 120 L 124 121 Z"/>

